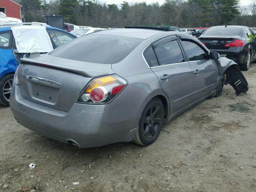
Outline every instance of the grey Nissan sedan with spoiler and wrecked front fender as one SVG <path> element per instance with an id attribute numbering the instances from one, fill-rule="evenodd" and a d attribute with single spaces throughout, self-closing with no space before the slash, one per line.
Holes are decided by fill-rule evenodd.
<path id="1" fill-rule="evenodd" d="M 26 128 L 76 148 L 147 146 L 164 123 L 220 96 L 224 84 L 237 95 L 248 90 L 234 61 L 192 36 L 150 27 L 106 30 L 22 59 L 10 108 Z"/>

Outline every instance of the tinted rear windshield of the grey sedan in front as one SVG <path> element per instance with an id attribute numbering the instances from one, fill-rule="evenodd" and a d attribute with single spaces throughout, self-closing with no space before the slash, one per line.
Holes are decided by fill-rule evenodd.
<path id="1" fill-rule="evenodd" d="M 122 61 L 142 41 L 132 37 L 90 34 L 73 40 L 50 55 L 83 62 L 114 64 Z"/>

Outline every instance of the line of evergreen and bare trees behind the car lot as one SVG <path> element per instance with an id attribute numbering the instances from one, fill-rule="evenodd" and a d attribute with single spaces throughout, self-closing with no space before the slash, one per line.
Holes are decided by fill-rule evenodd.
<path id="1" fill-rule="evenodd" d="M 99 0 L 21 0 L 24 22 L 42 22 L 42 15 L 62 15 L 64 22 L 93 27 L 170 25 L 180 28 L 216 25 L 256 26 L 256 0 L 165 0 L 120 5 Z"/>

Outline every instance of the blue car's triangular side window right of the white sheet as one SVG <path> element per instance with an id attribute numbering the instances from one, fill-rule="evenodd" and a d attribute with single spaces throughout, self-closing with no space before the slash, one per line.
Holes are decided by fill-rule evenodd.
<path id="1" fill-rule="evenodd" d="M 54 43 L 54 48 L 64 45 L 74 39 L 73 36 L 62 31 L 47 29 L 47 32 Z"/>

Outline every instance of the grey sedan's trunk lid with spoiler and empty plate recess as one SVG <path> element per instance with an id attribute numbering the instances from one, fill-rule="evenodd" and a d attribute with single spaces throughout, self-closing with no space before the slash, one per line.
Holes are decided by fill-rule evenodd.
<path id="1" fill-rule="evenodd" d="M 113 74 L 111 64 L 73 61 L 53 56 L 21 59 L 22 96 L 34 103 L 68 112 L 92 78 Z"/>

